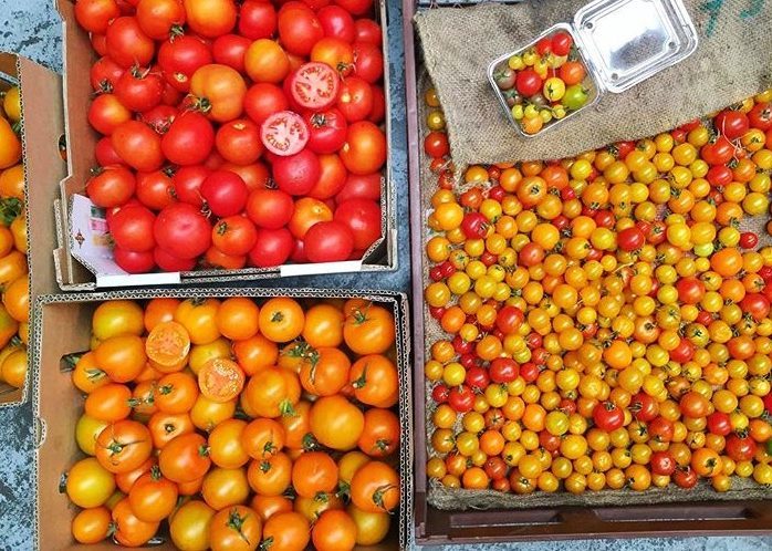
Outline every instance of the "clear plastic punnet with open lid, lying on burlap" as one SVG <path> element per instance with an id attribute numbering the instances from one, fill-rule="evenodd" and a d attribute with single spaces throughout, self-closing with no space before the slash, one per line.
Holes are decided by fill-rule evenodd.
<path id="1" fill-rule="evenodd" d="M 564 118 L 551 121 L 535 134 L 526 134 L 512 117 L 493 75 L 509 58 L 561 30 L 574 39 L 587 70 L 585 82 L 592 81 L 590 96 L 587 103 Z M 571 23 L 557 23 L 524 48 L 493 60 L 488 65 L 488 80 L 507 117 L 522 136 L 530 138 L 596 104 L 605 92 L 625 92 L 685 60 L 697 50 L 697 30 L 681 0 L 595 0 L 580 9 Z"/>

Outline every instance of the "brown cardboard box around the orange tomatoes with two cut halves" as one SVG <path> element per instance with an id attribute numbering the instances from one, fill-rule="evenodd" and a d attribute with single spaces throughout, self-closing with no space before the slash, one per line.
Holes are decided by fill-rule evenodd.
<path id="1" fill-rule="evenodd" d="M 407 547 L 407 514 L 413 510 L 413 420 L 409 365 L 408 304 L 404 294 L 388 291 L 361 291 L 288 289 L 182 289 L 123 291 L 104 293 L 70 293 L 41 297 L 35 305 L 35 333 L 31 346 L 31 365 L 34 373 L 33 407 L 38 420 L 38 445 L 34 457 L 33 486 L 36 488 L 34 543 L 42 551 L 114 551 L 105 541 L 97 545 L 76 544 L 71 536 L 70 522 L 76 507 L 63 493 L 63 475 L 72 464 L 82 458 L 74 438 L 74 427 L 83 413 L 83 396 L 72 385 L 69 371 L 60 370 L 62 357 L 88 350 L 91 316 L 100 302 L 113 299 L 144 300 L 155 297 L 277 297 L 293 298 L 354 298 L 361 297 L 392 308 L 396 321 L 397 367 L 399 370 L 399 418 L 401 444 L 399 465 L 401 500 L 393 530 L 379 545 L 361 548 L 362 551 L 386 551 Z M 156 549 L 173 550 L 170 541 Z"/>

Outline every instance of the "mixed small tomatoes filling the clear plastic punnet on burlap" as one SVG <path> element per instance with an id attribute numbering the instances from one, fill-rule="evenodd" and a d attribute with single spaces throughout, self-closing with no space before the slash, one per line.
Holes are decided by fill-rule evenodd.
<path id="1" fill-rule="evenodd" d="M 581 110 L 592 89 L 567 31 L 544 37 L 522 53 L 510 55 L 494 69 L 493 81 L 525 134 L 536 134 Z"/>

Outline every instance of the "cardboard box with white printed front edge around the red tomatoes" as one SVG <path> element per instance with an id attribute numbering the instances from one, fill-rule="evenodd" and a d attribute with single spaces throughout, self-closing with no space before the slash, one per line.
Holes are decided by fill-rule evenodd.
<path id="1" fill-rule="evenodd" d="M 61 183 L 56 204 L 60 241 L 55 250 L 56 280 L 65 291 L 87 291 L 97 288 L 159 284 L 212 283 L 259 280 L 265 278 L 311 276 L 336 272 L 392 271 L 397 268 L 397 229 L 390 163 L 387 160 L 382 179 L 382 238 L 362 260 L 307 264 L 284 264 L 279 268 L 242 270 L 196 270 L 190 272 L 157 272 L 129 276 L 112 260 L 106 245 L 104 220 L 92 208 L 84 190 L 88 170 L 95 165 L 94 145 L 97 133 L 88 125 L 86 113 L 92 100 L 88 70 L 98 59 L 87 33 L 76 23 L 74 2 L 56 0 L 63 21 L 64 50 L 64 116 L 67 135 L 69 175 Z M 386 91 L 386 135 L 393 150 L 389 97 L 389 61 L 386 43 L 386 0 L 379 0 L 379 19 L 384 22 L 384 90 Z M 398 98 L 396 101 L 401 101 Z"/>

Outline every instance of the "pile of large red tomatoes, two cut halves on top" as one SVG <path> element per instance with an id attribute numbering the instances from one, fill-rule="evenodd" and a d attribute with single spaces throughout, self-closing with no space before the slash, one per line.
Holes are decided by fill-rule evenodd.
<path id="1" fill-rule="evenodd" d="M 88 108 L 129 273 L 362 258 L 380 237 L 383 34 L 373 0 L 79 0 Z"/>

